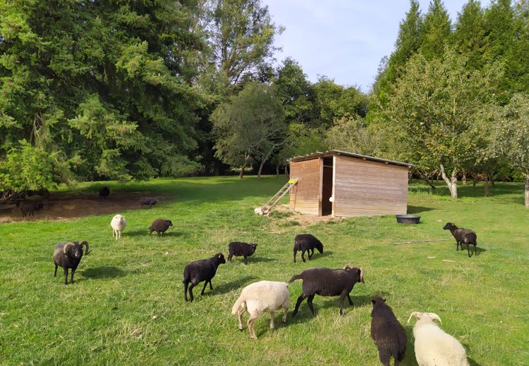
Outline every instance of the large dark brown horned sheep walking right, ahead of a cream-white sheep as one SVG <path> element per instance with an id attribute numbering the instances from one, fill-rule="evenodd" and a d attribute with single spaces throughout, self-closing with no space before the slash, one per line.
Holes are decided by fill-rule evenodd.
<path id="1" fill-rule="evenodd" d="M 312 315 L 316 315 L 312 306 L 312 299 L 315 294 L 320 296 L 340 296 L 340 315 L 343 315 L 343 299 L 347 296 L 349 304 L 353 305 L 349 293 L 357 282 L 364 282 L 364 269 L 346 265 L 341 269 L 332 270 L 331 268 L 309 268 L 300 274 L 293 276 L 290 281 L 303 279 L 303 292 L 298 297 L 296 308 L 292 313 L 295 317 L 298 313 L 300 303 L 307 298 Z"/>

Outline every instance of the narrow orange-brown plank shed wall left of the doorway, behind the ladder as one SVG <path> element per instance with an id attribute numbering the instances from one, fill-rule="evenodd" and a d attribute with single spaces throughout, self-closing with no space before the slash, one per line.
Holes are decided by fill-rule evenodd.
<path id="1" fill-rule="evenodd" d="M 290 191 L 290 208 L 318 215 L 320 208 L 320 159 L 290 163 L 290 179 L 298 178 Z"/>

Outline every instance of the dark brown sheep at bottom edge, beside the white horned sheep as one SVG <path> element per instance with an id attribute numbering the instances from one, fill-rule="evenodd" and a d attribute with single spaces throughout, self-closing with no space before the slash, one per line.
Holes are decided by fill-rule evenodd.
<path id="1" fill-rule="evenodd" d="M 371 338 L 377 345 L 379 360 L 382 365 L 389 366 L 389 360 L 393 357 L 394 365 L 398 366 L 406 353 L 406 330 L 387 305 L 385 298 L 377 296 L 372 298 L 371 302 Z"/>

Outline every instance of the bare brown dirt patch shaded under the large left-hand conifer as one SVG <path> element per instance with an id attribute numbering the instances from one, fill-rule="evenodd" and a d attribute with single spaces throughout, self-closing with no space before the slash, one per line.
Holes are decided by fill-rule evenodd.
<path id="1" fill-rule="evenodd" d="M 44 208 L 35 211 L 35 215 L 22 217 L 20 209 L 15 205 L 4 206 L 0 210 L 0 223 L 35 221 L 35 220 L 71 220 L 90 215 L 106 213 L 119 213 L 122 210 L 140 208 L 141 193 L 112 194 L 108 198 L 99 198 L 99 195 L 69 196 L 51 195 L 44 200 Z M 169 196 L 159 196 L 160 201 L 169 201 Z M 144 210 L 147 210 L 144 206 Z"/>

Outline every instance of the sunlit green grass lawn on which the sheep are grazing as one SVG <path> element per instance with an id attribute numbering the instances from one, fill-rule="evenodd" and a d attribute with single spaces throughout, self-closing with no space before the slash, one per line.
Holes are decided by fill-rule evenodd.
<path id="1" fill-rule="evenodd" d="M 460 187 L 453 202 L 439 183 L 410 187 L 408 213 L 420 225 L 397 225 L 394 216 L 359 217 L 304 227 L 288 214 L 260 217 L 253 209 L 286 177 L 207 177 L 110 183 L 111 191 L 171 196 L 152 209 L 120 212 L 128 225 L 112 238 L 113 215 L 68 221 L 0 225 L 0 363 L 2 365 L 379 365 L 370 338 L 370 299 L 384 296 L 408 334 L 403 365 L 416 365 L 411 312 L 437 313 L 442 328 L 465 346 L 472 365 L 529 364 L 529 210 L 523 184 Z M 97 192 L 103 183 L 80 189 Z M 107 183 L 105 183 L 107 184 Z M 139 206 L 139 204 L 138 204 Z M 117 212 L 116 212 L 117 213 Z M 38 215 L 38 214 L 37 214 Z M 156 218 L 170 219 L 168 235 L 147 235 Z M 474 229 L 479 255 L 456 252 L 446 222 Z M 293 263 L 296 234 L 324 244 L 311 261 Z M 394 245 L 394 242 L 450 239 Z M 73 285 L 53 277 L 59 241 L 87 240 Z M 220 265 L 213 291 L 183 300 L 183 267 L 223 252 L 230 241 L 255 241 L 256 253 Z M 432 257 L 432 258 L 430 258 Z M 299 254 L 298 254 L 299 259 Z M 449 260 L 443 261 L 443 260 Z M 255 323 L 259 339 L 238 331 L 231 306 L 243 286 L 285 281 L 309 267 L 365 267 L 339 315 L 339 300 L 316 296 L 317 316 L 306 301 L 286 324 L 276 313 Z M 291 309 L 301 282 L 289 285 Z M 245 320 L 248 315 L 245 315 Z"/>

